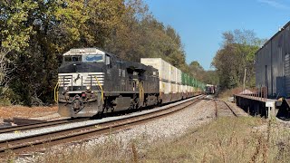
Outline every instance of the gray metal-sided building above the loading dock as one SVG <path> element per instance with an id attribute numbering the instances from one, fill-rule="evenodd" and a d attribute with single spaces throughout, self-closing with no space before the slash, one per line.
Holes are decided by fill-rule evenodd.
<path id="1" fill-rule="evenodd" d="M 269 97 L 290 97 L 290 22 L 256 52 L 256 88 Z"/>

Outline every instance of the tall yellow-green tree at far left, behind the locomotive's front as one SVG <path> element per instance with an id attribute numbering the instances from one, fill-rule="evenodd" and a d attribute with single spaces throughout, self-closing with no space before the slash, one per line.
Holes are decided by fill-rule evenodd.
<path id="1" fill-rule="evenodd" d="M 11 49 L 13 80 L 26 105 L 53 101 L 61 54 L 73 47 L 102 47 L 124 12 L 116 1 L 1 1 L 1 46 Z M 16 97 L 16 96 L 15 96 Z"/>

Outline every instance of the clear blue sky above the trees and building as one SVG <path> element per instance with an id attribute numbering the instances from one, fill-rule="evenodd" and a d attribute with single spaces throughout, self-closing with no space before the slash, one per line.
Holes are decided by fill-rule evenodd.
<path id="1" fill-rule="evenodd" d="M 253 30 L 269 39 L 290 21 L 290 0 L 144 0 L 150 13 L 180 35 L 187 62 L 212 70 L 222 33 Z"/>

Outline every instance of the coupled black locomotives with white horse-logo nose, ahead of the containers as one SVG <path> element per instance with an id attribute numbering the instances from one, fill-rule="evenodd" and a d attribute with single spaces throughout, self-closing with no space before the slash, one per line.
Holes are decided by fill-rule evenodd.
<path id="1" fill-rule="evenodd" d="M 92 117 L 160 103 L 158 70 L 97 48 L 63 54 L 55 100 L 65 117 Z"/>

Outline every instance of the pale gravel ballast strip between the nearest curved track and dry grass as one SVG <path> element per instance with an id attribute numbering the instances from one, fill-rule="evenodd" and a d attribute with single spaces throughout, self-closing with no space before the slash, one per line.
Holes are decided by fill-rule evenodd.
<path id="1" fill-rule="evenodd" d="M 189 128 L 199 127 L 210 122 L 211 120 L 215 120 L 214 102 L 199 101 L 197 104 L 165 118 L 150 121 L 148 123 L 135 126 L 131 129 L 117 132 L 113 134 L 113 137 L 117 141 L 120 140 L 124 146 L 123 149 L 126 149 L 127 145 L 131 142 L 131 139 L 146 136 L 146 142 L 153 143 L 158 139 L 176 138 L 184 134 Z M 111 139 L 111 135 L 92 138 L 85 142 L 84 146 L 88 150 L 93 149 L 97 144 L 102 144 L 107 139 Z M 62 146 L 54 147 L 53 150 L 55 150 L 55 153 L 65 152 L 76 148 L 76 146 L 80 146 L 80 144 L 71 144 L 71 146 L 65 148 Z M 42 155 L 38 155 L 38 157 L 41 156 Z M 34 157 L 18 158 L 16 160 L 16 162 L 31 161 L 34 161 Z"/>

